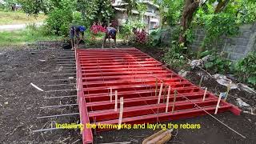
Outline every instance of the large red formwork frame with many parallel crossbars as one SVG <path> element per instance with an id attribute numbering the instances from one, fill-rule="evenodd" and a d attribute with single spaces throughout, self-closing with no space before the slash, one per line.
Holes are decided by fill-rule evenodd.
<path id="1" fill-rule="evenodd" d="M 123 123 L 168 121 L 214 113 L 218 97 L 207 92 L 185 78 L 175 74 L 161 62 L 135 48 L 76 50 L 77 89 L 80 119 L 86 123 L 117 124 L 119 111 L 114 111 L 110 102 L 110 88 L 124 98 Z M 156 84 L 156 80 L 158 84 Z M 160 103 L 159 93 L 164 84 Z M 171 87 L 169 111 L 166 113 L 165 86 Z M 157 89 L 157 90 L 156 90 Z M 174 90 L 178 92 L 174 103 Z M 200 106 L 200 107 L 198 107 Z M 220 102 L 218 113 L 231 111 L 240 114 L 238 107 Z M 93 143 L 90 129 L 82 130 L 82 142 Z"/>

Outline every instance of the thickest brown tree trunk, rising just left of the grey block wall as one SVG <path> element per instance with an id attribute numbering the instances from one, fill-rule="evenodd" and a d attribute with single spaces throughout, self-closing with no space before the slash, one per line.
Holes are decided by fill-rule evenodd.
<path id="1" fill-rule="evenodd" d="M 198 9 L 199 0 L 185 0 L 185 5 L 182 11 L 181 26 L 182 31 L 179 35 L 179 43 L 186 42 L 186 30 L 189 28 L 194 12 Z"/>

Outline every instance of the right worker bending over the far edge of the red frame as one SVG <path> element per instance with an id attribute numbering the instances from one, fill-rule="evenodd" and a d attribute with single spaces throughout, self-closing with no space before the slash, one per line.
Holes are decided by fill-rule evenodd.
<path id="1" fill-rule="evenodd" d="M 102 42 L 102 48 L 104 48 L 104 46 L 105 46 L 106 38 L 109 39 L 109 42 L 110 42 L 110 38 L 112 38 L 114 40 L 114 47 L 116 48 L 116 46 L 117 46 L 116 35 L 117 35 L 117 30 L 114 27 L 107 27 L 106 28 L 106 35 L 103 38 L 103 42 Z M 112 48 L 112 43 L 111 42 L 110 42 L 110 48 Z"/>

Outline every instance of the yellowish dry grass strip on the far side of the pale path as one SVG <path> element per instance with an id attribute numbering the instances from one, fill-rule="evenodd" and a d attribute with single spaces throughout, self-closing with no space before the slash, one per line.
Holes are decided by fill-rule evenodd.
<path id="1" fill-rule="evenodd" d="M 44 14 L 38 14 L 38 17 L 34 17 L 23 12 L 0 11 L 0 25 L 43 22 L 45 19 L 46 15 Z"/>

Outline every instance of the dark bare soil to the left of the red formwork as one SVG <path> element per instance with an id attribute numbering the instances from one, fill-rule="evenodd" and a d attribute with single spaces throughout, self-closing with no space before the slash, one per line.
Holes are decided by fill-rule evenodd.
<path id="1" fill-rule="evenodd" d="M 74 99 L 48 100 L 43 97 L 50 95 L 30 85 L 32 82 L 42 90 L 51 90 L 46 85 L 54 78 L 54 70 L 58 70 L 57 58 L 62 54 L 61 43 L 41 42 L 30 46 L 9 47 L 0 53 L 0 143 L 77 141 L 80 138 L 79 132 L 74 130 L 32 132 L 50 128 L 50 120 L 59 123 L 78 121 L 78 116 L 66 119 L 37 119 L 39 116 L 78 112 L 70 107 L 40 109 L 41 106 L 58 105 L 59 102 L 71 103 Z M 63 140 L 65 141 L 62 142 Z"/>

